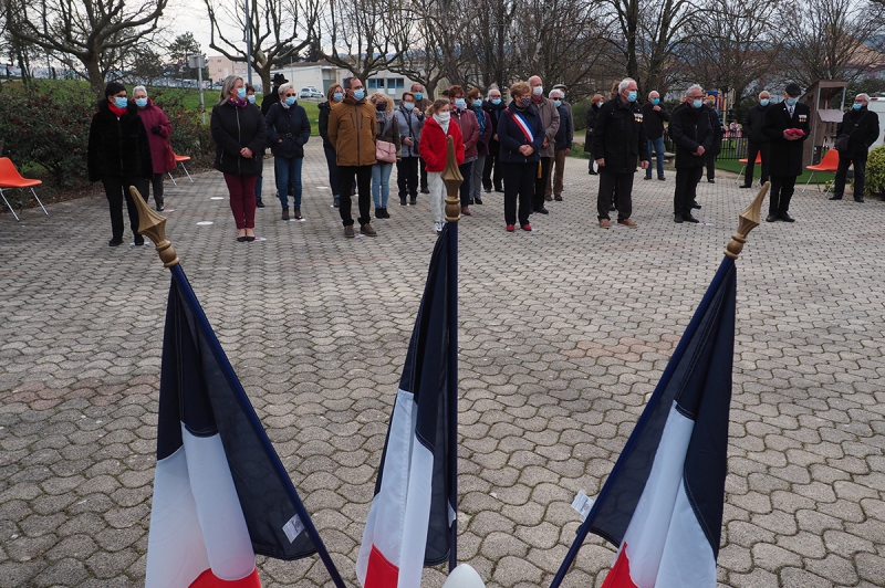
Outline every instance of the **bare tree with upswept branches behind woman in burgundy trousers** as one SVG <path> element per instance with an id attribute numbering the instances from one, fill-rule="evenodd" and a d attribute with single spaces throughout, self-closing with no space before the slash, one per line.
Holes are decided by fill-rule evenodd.
<path id="1" fill-rule="evenodd" d="M 246 30 L 246 3 L 238 0 L 231 8 L 220 0 L 204 0 L 209 12 L 209 46 L 231 61 L 251 61 L 261 77 L 264 92 L 271 87 L 271 72 L 278 63 L 293 60 L 310 46 L 316 25 L 317 0 L 251 0 L 249 24 L 252 54 L 247 55 L 241 39 L 229 39 L 222 29 Z"/>

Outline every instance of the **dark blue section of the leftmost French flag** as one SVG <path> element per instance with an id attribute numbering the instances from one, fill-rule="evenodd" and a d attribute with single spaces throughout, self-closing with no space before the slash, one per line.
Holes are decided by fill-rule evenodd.
<path id="1" fill-rule="evenodd" d="M 157 459 L 163 460 L 181 448 L 181 423 L 197 437 L 218 433 L 254 553 L 278 559 L 299 559 L 316 553 L 311 537 L 315 535 L 315 528 L 310 516 L 187 277 L 178 265 L 170 271 L 173 281 L 163 343 Z M 302 532 L 290 542 L 283 526 L 295 514 L 311 533 Z"/>

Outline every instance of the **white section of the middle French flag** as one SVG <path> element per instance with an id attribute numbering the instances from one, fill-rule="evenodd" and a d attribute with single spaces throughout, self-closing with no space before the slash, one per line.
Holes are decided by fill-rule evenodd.
<path id="1" fill-rule="evenodd" d="M 398 568 L 398 587 L 420 586 L 434 455 L 415 439 L 416 409 L 415 396 L 399 390 L 391 420 L 381 490 L 372 501 L 356 559 L 361 586 L 366 585 L 367 576 L 373 576 L 368 569 L 373 546 Z"/>

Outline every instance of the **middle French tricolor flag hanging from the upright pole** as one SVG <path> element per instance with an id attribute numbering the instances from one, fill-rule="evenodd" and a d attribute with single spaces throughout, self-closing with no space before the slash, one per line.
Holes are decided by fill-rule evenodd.
<path id="1" fill-rule="evenodd" d="M 448 242 L 437 239 L 384 444 L 356 575 L 364 588 L 417 588 L 424 566 L 449 557 L 456 501 L 457 409 L 451 409 L 449 313 L 452 287 Z M 457 301 L 456 301 L 457 302 Z M 457 399 L 456 399 L 457 401 Z M 457 405 L 456 405 L 457 407 Z"/>

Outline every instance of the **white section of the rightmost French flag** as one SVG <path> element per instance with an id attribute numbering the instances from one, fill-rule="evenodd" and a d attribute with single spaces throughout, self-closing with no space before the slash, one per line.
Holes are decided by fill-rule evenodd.
<path id="1" fill-rule="evenodd" d="M 688 503 L 683 480 L 694 427 L 695 421 L 680 414 L 674 403 L 645 490 L 624 534 L 622 545 L 627 546 L 631 578 L 638 588 L 716 586 L 716 559 Z"/>

